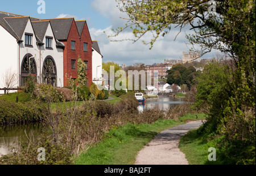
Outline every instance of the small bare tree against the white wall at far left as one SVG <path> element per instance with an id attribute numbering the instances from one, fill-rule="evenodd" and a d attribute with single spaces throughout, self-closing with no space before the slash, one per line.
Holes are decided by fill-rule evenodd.
<path id="1" fill-rule="evenodd" d="M 8 68 L 5 74 L 2 75 L 2 84 L 6 88 L 7 94 L 10 92 L 10 89 L 17 87 L 17 74 L 11 68 Z"/>

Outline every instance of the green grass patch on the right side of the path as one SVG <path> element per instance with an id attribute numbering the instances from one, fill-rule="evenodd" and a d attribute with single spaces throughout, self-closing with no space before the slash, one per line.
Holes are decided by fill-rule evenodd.
<path id="1" fill-rule="evenodd" d="M 179 148 L 185 153 L 190 165 L 220 165 L 225 161 L 220 161 L 219 150 L 216 147 L 216 140 L 208 141 L 207 136 L 197 134 L 197 129 L 189 131 L 186 135 L 181 136 Z M 209 161 L 208 152 L 210 147 L 216 148 L 216 161 Z"/>

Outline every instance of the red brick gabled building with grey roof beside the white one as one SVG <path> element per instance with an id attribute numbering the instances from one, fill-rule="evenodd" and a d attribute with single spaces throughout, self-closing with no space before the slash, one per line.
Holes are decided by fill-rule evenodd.
<path id="1" fill-rule="evenodd" d="M 44 19 L 52 24 L 53 33 L 64 44 L 64 87 L 68 78 L 77 78 L 77 60 L 79 57 L 87 65 L 88 85 L 92 83 L 92 39 L 86 21 L 75 22 L 74 18 Z"/>

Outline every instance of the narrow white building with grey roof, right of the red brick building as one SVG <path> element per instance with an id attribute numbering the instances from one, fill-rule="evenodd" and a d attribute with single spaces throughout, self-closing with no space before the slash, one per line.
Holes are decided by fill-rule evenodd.
<path id="1" fill-rule="evenodd" d="M 94 84 L 102 85 L 102 58 L 100 48 L 97 41 L 92 44 L 92 79 Z"/>

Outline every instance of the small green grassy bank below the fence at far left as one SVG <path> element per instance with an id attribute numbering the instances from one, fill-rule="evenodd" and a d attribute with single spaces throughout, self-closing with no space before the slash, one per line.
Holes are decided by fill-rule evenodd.
<path id="1" fill-rule="evenodd" d="M 18 96 L 19 102 L 28 102 L 31 101 L 31 96 L 29 93 L 25 92 L 15 92 L 15 93 L 9 93 L 6 95 L 0 96 L 0 100 L 7 100 L 11 102 L 16 102 L 16 97 Z"/>

